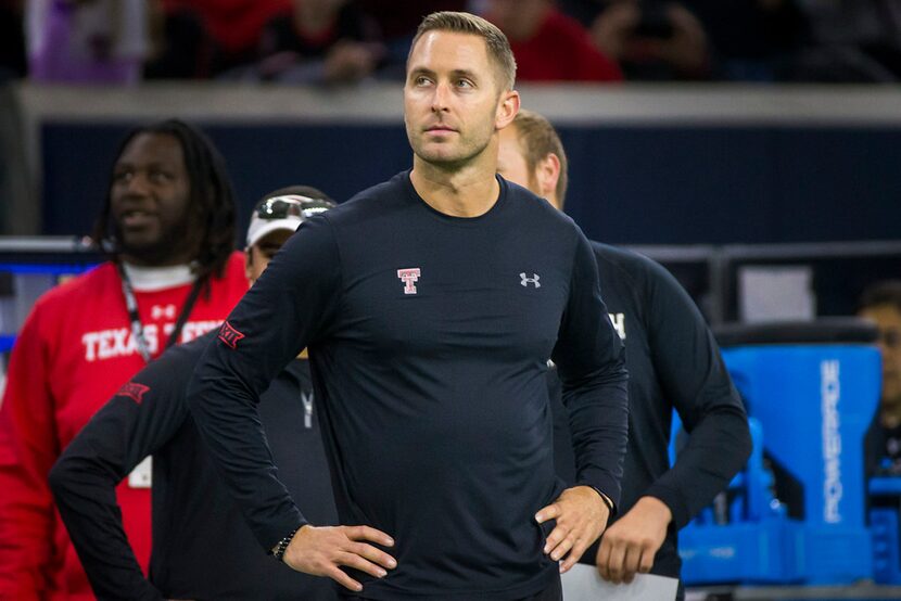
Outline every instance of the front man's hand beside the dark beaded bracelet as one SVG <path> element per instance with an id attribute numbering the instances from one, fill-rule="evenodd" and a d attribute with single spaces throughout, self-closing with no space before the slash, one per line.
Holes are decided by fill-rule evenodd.
<path id="1" fill-rule="evenodd" d="M 394 547 L 394 540 L 381 530 L 369 526 L 303 526 L 291 539 L 284 551 L 289 567 L 327 576 L 341 586 L 361 591 L 363 585 L 351 578 L 340 566 L 352 567 L 377 578 L 384 577 L 397 566 L 397 561 L 384 551 L 369 545 Z"/>

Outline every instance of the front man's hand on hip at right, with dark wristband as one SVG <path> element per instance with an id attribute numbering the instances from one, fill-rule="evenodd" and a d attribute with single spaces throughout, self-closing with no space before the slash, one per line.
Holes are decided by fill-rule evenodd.
<path id="1" fill-rule="evenodd" d="M 604 533 L 609 515 L 607 503 L 591 486 L 567 488 L 556 501 L 535 514 L 538 524 L 557 521 L 557 526 L 547 536 L 544 552 L 554 561 L 563 560 L 561 574 L 575 565 L 585 549 Z"/>

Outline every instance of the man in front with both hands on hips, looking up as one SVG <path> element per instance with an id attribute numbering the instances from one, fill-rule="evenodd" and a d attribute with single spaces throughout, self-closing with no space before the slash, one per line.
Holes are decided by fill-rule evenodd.
<path id="1" fill-rule="evenodd" d="M 495 175 L 515 69 L 484 20 L 426 17 L 404 87 L 413 169 L 303 223 L 194 371 L 192 413 L 257 541 L 345 597 L 559 599 L 619 498 L 625 372 L 587 240 Z M 253 426 L 305 346 L 352 526 L 297 511 Z M 567 490 L 551 357 L 580 451 Z"/>

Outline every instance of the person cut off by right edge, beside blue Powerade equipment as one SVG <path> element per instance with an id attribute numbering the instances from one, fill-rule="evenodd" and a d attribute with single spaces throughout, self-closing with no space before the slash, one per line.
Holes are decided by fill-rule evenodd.
<path id="1" fill-rule="evenodd" d="M 883 356 L 883 395 L 866 433 L 866 469 L 901 473 L 901 281 L 887 280 L 861 295 L 858 315 L 879 330 Z"/>

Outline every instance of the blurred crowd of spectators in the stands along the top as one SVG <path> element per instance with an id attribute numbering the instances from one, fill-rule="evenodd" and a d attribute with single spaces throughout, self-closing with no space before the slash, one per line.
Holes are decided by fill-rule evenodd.
<path id="1" fill-rule="evenodd" d="M 434 10 L 498 25 L 519 81 L 901 77 L 899 0 L 0 0 L 0 79 L 397 79 Z"/>

